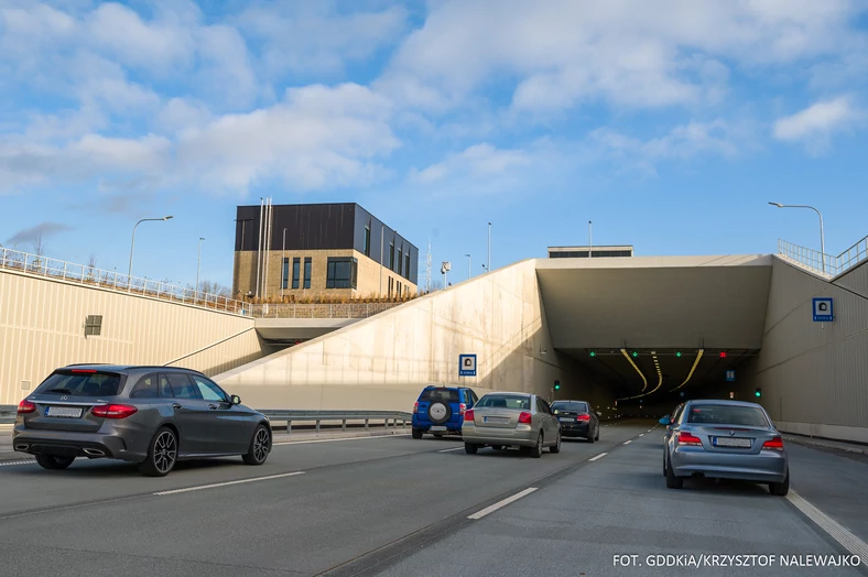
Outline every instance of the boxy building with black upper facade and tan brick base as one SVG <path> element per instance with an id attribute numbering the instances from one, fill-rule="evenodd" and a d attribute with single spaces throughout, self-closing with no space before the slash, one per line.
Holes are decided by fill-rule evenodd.
<path id="1" fill-rule="evenodd" d="M 355 203 L 239 206 L 238 298 L 411 296 L 419 249 Z"/>

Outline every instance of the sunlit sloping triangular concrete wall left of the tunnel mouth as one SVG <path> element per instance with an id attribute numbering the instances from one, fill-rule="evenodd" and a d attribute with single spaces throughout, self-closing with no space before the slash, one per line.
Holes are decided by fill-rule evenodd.
<path id="1" fill-rule="evenodd" d="M 544 352 L 543 352 L 544 351 Z M 477 377 L 458 377 L 458 355 Z M 477 276 L 215 378 L 259 409 L 409 411 L 428 384 L 534 392 L 607 402 L 575 361 L 556 352 L 535 261 Z M 596 400 L 599 398 L 599 400 Z"/>

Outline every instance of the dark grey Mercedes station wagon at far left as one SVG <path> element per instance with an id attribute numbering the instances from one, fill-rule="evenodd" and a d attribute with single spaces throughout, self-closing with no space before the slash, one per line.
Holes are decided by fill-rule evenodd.
<path id="1" fill-rule="evenodd" d="M 241 456 L 262 465 L 271 425 L 197 371 L 78 364 L 55 370 L 21 401 L 12 446 L 45 469 L 108 458 L 162 477 L 185 459 Z"/>

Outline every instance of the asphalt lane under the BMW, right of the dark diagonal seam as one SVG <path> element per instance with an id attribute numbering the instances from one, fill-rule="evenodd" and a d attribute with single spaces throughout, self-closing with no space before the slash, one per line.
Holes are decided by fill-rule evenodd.
<path id="1" fill-rule="evenodd" d="M 843 469 L 861 465 L 829 462 L 820 451 L 791 447 L 793 475 L 822 466 Z M 467 520 L 442 538 L 397 544 L 356 562 L 335 575 L 866 575 L 865 566 L 839 567 L 654 567 L 649 555 L 846 555 L 831 536 L 784 498 L 766 487 L 713 480 L 686 481 L 685 489 L 665 488 L 660 431 L 587 462 L 581 469 L 539 488 L 479 520 Z M 850 470 L 847 469 L 849 478 Z M 796 472 L 798 471 L 798 472 Z M 814 488 L 804 479 L 802 486 Z M 828 487 L 829 478 L 821 479 Z M 864 483 L 864 478 L 862 482 Z M 793 488 L 798 490 L 799 481 Z M 792 493 L 791 493 L 792 494 Z M 850 516 L 864 520 L 868 501 L 849 499 Z M 446 559 L 460 557 L 460 570 Z M 616 565 L 615 555 L 637 555 Z M 654 560 L 654 559 L 652 559 Z M 868 559 L 866 559 L 868 562 Z M 748 562 L 749 563 L 749 562 Z M 641 565 L 640 565 L 641 564 Z M 366 573 L 360 573 L 367 569 Z"/>

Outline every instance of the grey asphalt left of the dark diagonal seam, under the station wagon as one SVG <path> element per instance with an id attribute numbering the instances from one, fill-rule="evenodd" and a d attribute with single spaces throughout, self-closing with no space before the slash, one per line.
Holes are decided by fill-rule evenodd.
<path id="1" fill-rule="evenodd" d="M 110 461 L 66 471 L 6 467 L 0 558 L 4 573 L 37 575 L 314 575 L 448 526 L 645 429 L 605 427 L 599 443 L 567 442 L 541 459 L 468 456 L 447 439 L 377 437 L 281 445 L 262 467 L 203 461 L 164 479 Z M 302 475 L 286 476 L 293 472 Z M 237 482 L 263 477 L 271 478 Z M 226 482 L 235 485 L 154 494 Z"/>

